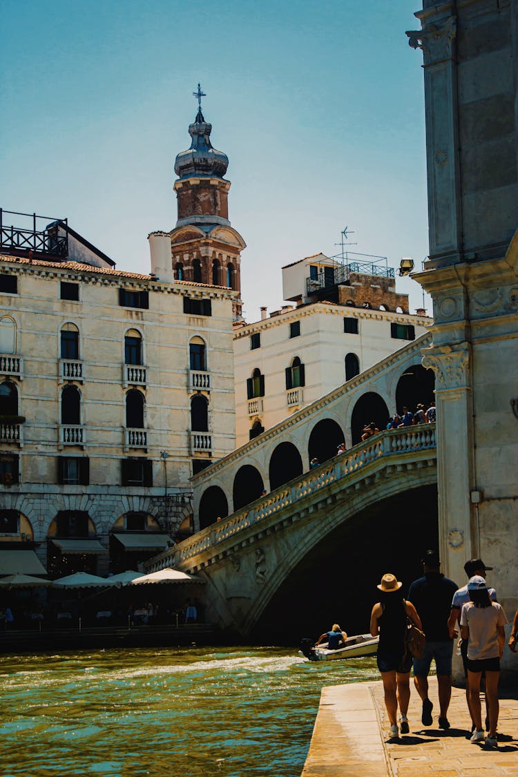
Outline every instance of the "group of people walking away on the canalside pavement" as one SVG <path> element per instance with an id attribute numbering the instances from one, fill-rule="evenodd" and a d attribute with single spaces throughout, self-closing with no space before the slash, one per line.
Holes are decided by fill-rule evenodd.
<path id="1" fill-rule="evenodd" d="M 428 695 L 432 660 L 436 664 L 439 689 L 438 725 L 442 730 L 450 728 L 447 713 L 452 657 L 460 627 L 461 639 L 457 645 L 464 663 L 464 674 L 468 678 L 466 699 L 471 717 L 468 738 L 473 743 L 497 747 L 498 683 L 507 619 L 496 601 L 495 589 L 488 587 L 485 581 L 486 573 L 492 567 L 485 566 L 481 559 L 470 559 L 464 565 L 468 584 L 459 588 L 453 580 L 440 573 L 437 552 L 427 551 L 422 565 L 424 576 L 411 584 L 407 598 L 403 597 L 402 583 L 395 575 L 385 574 L 377 586 L 380 601 L 374 605 L 370 617 L 370 633 L 372 636 L 379 635 L 377 667 L 381 672 L 385 706 L 391 724 L 389 737 L 399 737 L 400 731 L 402 734 L 409 733 L 407 713 L 412 664 L 415 689 L 422 701 L 421 722 L 423 726 L 432 725 L 433 703 Z M 509 639 L 509 650 L 513 652 L 516 652 L 517 629 L 518 610 Z M 481 682 L 484 681 L 487 734 L 482 726 L 480 702 Z M 399 727 L 398 704 L 401 713 Z"/>

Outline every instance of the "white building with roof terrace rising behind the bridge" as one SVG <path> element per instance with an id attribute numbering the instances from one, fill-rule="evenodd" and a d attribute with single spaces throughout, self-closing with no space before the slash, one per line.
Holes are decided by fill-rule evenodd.
<path id="1" fill-rule="evenodd" d="M 372 263 L 306 257 L 283 267 L 283 296 L 296 307 L 269 316 L 262 308 L 260 321 L 235 326 L 238 445 L 377 364 L 431 324 L 422 310 L 408 314 L 407 295 L 395 292 L 394 270 Z"/>

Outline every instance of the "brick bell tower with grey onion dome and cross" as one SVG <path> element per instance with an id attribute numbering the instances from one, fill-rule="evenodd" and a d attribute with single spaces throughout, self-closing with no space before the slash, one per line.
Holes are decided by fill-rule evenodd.
<path id="1" fill-rule="evenodd" d="M 201 110 L 205 94 L 198 84 L 193 95 L 198 111 L 189 124 L 191 145 L 176 156 L 178 176 L 174 189 L 178 221 L 171 232 L 172 268 L 176 280 L 226 286 L 241 291 L 242 236 L 228 220 L 230 181 L 224 178 L 228 156 L 210 142 L 212 125 Z M 234 303 L 235 319 L 241 318 L 242 301 Z"/>

